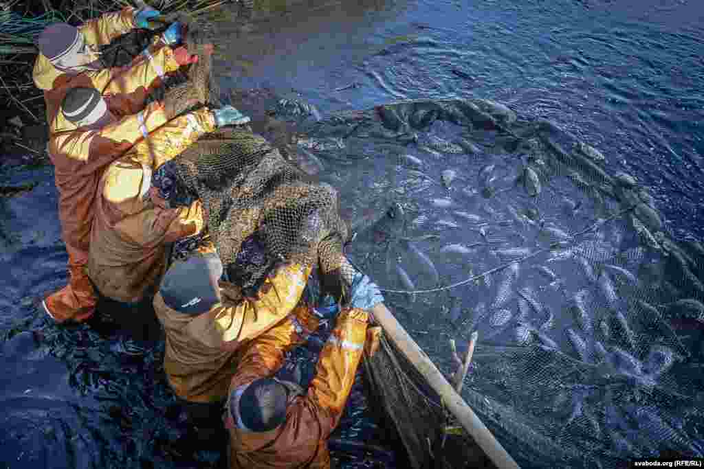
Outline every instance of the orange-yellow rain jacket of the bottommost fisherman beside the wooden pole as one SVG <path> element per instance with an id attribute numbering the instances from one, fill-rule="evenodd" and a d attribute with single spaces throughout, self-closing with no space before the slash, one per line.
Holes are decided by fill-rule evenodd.
<path id="1" fill-rule="evenodd" d="M 337 326 L 320 352 L 308 392 L 289 404 L 286 421 L 279 427 L 268 432 L 241 430 L 228 409 L 225 427 L 230 432 L 230 468 L 329 468 L 327 439 L 337 427 L 349 397 L 365 338 L 378 338 L 380 332 L 379 328 L 370 328 L 367 334 L 367 318 L 367 312 L 361 309 L 341 311 Z M 230 392 L 273 375 L 296 339 L 294 328 L 284 322 L 243 347 Z"/>

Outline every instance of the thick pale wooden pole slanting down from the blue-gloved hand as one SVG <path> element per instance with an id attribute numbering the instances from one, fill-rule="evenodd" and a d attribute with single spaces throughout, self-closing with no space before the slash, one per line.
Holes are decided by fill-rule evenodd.
<path id="1" fill-rule="evenodd" d="M 472 435 L 474 441 L 484 450 L 486 456 L 494 462 L 499 469 L 517 469 L 519 465 L 503 449 L 501 443 L 496 441 L 494 435 L 479 420 L 477 414 L 467 405 L 465 399 L 458 394 L 447 382 L 444 375 L 440 373 L 435 364 L 418 347 L 406 330 L 396 320 L 391 311 L 383 303 L 377 304 L 371 309 L 379 326 L 382 326 L 386 335 L 394 341 L 406 358 L 415 365 L 421 375 L 428 381 L 428 384 L 437 392 L 441 399 L 444 399 L 447 409 L 457 418 L 460 424 Z"/>

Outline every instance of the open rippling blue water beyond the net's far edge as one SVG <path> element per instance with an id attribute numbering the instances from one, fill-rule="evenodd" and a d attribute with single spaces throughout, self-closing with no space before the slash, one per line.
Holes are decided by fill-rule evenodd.
<path id="1" fill-rule="evenodd" d="M 495 99 L 602 150 L 610 169 L 652 188 L 677 236 L 704 234 L 703 4 L 361 5 L 291 9 L 264 38 L 233 38 L 222 70 L 232 84 L 293 89 L 328 112 L 401 98 Z M 255 65 L 241 70 L 237 56 Z M 363 86 L 334 91 L 352 82 Z"/>

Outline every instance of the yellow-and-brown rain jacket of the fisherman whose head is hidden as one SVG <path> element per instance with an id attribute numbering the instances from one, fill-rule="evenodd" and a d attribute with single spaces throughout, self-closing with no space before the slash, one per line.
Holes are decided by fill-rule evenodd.
<path id="1" fill-rule="evenodd" d="M 165 243 L 203 229 L 199 201 L 165 209 L 153 204 L 148 190 L 153 170 L 214 129 L 210 110 L 182 115 L 105 170 L 96 191 L 88 259 L 88 275 L 100 293 L 121 302 L 142 300 L 165 271 Z"/>

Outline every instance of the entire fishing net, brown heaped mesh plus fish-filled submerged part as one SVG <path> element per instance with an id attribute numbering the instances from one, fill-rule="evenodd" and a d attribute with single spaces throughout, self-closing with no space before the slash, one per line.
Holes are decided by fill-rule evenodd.
<path id="1" fill-rule="evenodd" d="M 242 285 L 270 265 L 242 259 L 251 243 L 348 277 L 351 238 L 441 371 L 449 340 L 479 333 L 462 395 L 522 467 L 702 456 L 704 248 L 608 151 L 481 99 L 292 120 L 289 158 L 239 128 L 170 163 L 223 262 L 251 269 Z M 391 342 L 365 372 L 413 467 L 489 464 Z"/>

